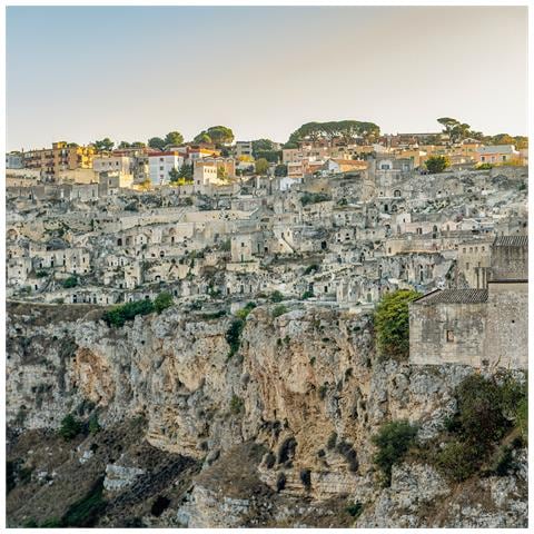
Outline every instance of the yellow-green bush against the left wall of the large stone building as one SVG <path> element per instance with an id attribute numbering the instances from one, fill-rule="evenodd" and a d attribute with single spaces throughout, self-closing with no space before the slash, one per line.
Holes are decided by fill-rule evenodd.
<path id="1" fill-rule="evenodd" d="M 408 303 L 421 294 L 398 289 L 382 297 L 374 314 L 378 350 L 384 357 L 406 358 L 409 353 Z"/>

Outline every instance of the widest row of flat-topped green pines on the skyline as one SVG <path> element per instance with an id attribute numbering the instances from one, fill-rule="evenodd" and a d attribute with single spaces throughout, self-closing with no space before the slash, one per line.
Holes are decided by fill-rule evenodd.
<path id="1" fill-rule="evenodd" d="M 318 141 L 319 139 L 326 139 L 328 142 L 340 139 L 345 144 L 354 142 L 355 139 L 374 142 L 379 135 L 380 128 L 374 122 L 362 122 L 359 120 L 307 122 L 289 136 L 289 140 L 284 147 L 297 148 L 300 141 Z"/>

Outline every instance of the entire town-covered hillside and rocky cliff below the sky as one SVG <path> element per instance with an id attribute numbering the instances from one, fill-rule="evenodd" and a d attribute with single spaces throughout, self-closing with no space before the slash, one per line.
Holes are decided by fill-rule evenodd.
<path id="1" fill-rule="evenodd" d="M 438 122 L 8 154 L 10 525 L 526 526 L 527 139 Z"/>

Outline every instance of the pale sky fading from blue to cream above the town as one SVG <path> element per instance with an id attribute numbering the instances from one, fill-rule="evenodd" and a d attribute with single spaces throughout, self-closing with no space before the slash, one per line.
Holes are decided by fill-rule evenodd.
<path id="1" fill-rule="evenodd" d="M 526 135 L 527 9 L 10 7 L 7 110 L 8 150 L 445 116 Z"/>

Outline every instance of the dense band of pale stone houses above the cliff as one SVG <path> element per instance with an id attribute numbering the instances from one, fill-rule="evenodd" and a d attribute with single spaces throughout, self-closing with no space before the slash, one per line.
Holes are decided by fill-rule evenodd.
<path id="1" fill-rule="evenodd" d="M 283 150 L 287 176 L 233 179 L 235 156 L 179 148 L 142 164 L 128 150 L 93 155 L 91 169 L 65 171 L 95 181 L 8 171 L 8 297 L 106 306 L 167 290 L 217 308 L 280 291 L 358 313 L 397 288 L 487 290 L 495 239 L 527 231 L 521 165 L 422 175 L 398 146 L 365 159 L 303 146 Z M 323 166 L 294 178 L 299 158 Z M 188 161 L 194 184 L 165 182 Z M 146 172 L 160 185 L 135 187 Z"/>

